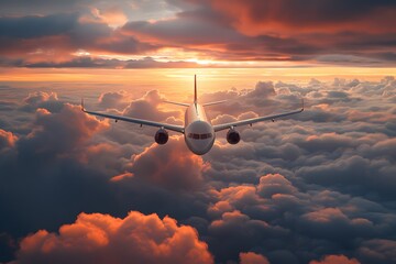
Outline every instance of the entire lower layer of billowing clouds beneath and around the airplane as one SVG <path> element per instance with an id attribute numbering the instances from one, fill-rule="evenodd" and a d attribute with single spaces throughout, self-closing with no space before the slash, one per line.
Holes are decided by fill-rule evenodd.
<path id="1" fill-rule="evenodd" d="M 204 260 L 191 257 L 395 262 L 393 77 L 257 81 L 202 95 L 200 101 L 228 99 L 208 108 L 216 122 L 295 109 L 301 96 L 307 105 L 293 118 L 238 128 L 237 145 L 218 133 L 205 156 L 191 154 L 179 135 L 157 145 L 155 128 L 82 113 L 64 99 L 76 97 L 74 90 L 0 92 L 2 262 L 42 262 L 44 252 L 54 260 L 118 257 L 118 243 L 151 261 L 200 252 Z M 179 111 L 160 105 L 164 95 L 141 95 L 103 92 L 86 105 L 179 121 Z M 130 221 L 135 228 L 123 232 Z M 158 255 L 140 248 L 148 241 Z M 177 252 L 166 250 L 173 242 Z"/>

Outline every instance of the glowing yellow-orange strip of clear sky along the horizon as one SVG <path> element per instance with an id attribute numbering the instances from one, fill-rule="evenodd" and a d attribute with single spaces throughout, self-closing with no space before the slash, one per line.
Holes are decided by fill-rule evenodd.
<path id="1" fill-rule="evenodd" d="M 194 75 L 198 94 L 235 88 L 253 89 L 257 81 L 308 84 L 311 78 L 332 81 L 334 78 L 378 81 L 396 76 L 396 68 L 306 67 L 306 68 L 0 68 L 0 84 L 20 88 L 46 87 L 61 92 L 85 87 L 95 92 L 125 90 L 136 97 L 156 89 L 168 99 L 189 102 Z M 95 94 L 94 92 L 94 94 Z M 88 96 L 88 95 L 86 95 Z"/>

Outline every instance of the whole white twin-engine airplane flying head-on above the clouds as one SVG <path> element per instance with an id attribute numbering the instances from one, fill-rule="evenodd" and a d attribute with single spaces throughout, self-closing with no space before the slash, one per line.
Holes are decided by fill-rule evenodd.
<path id="1" fill-rule="evenodd" d="M 150 125 L 150 127 L 160 128 L 160 130 L 155 133 L 155 136 L 154 136 L 155 142 L 160 145 L 166 144 L 166 142 L 168 141 L 169 135 L 168 135 L 167 130 L 179 132 L 179 133 L 184 134 L 187 147 L 194 154 L 197 154 L 197 155 L 204 155 L 211 150 L 211 147 L 213 146 L 213 143 L 215 143 L 215 139 L 216 139 L 216 132 L 219 132 L 222 130 L 229 130 L 227 132 L 227 141 L 233 145 L 233 144 L 238 144 L 241 140 L 240 133 L 235 130 L 237 127 L 248 125 L 248 124 L 252 125 L 253 123 L 262 122 L 262 121 L 266 121 L 266 120 L 272 120 L 274 122 L 275 119 L 300 113 L 304 111 L 304 99 L 301 99 L 302 106 L 301 106 L 301 109 L 299 109 L 299 110 L 212 125 L 205 112 L 205 107 L 223 103 L 223 102 L 226 102 L 226 100 L 207 102 L 207 103 L 202 103 L 202 105 L 198 103 L 198 100 L 197 100 L 197 76 L 196 75 L 194 76 L 194 102 L 193 103 L 174 102 L 174 101 L 165 101 L 165 102 L 177 105 L 177 106 L 183 106 L 183 107 L 187 108 L 186 112 L 185 112 L 185 124 L 184 125 L 168 124 L 168 123 L 155 122 L 155 121 L 143 120 L 143 119 L 114 116 L 114 114 L 103 113 L 103 112 L 88 111 L 84 107 L 84 99 L 81 99 L 81 110 L 88 114 L 114 119 L 116 122 L 121 120 L 121 121 L 127 121 L 127 122 L 131 122 L 131 123 L 138 123 L 141 127 Z"/>

